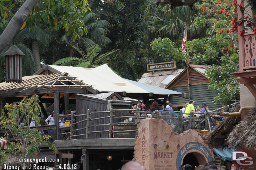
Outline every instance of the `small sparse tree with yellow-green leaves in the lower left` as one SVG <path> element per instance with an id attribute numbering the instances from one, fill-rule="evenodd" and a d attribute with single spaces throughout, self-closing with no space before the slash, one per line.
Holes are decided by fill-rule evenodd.
<path id="1" fill-rule="evenodd" d="M 35 152 L 39 152 L 39 145 L 50 144 L 49 136 L 41 136 L 39 130 L 28 127 L 32 118 L 35 118 L 36 124 L 40 122 L 38 115 L 41 109 L 37 95 L 31 98 L 23 98 L 22 101 L 16 104 L 7 103 L 4 108 L 6 112 L 3 110 L 0 124 L 6 130 L 6 134 L 7 132 L 11 133 L 15 138 L 14 142 L 9 142 L 8 153 L 21 153 L 23 158 L 27 155 L 31 157 Z M 24 118 L 20 120 L 22 114 L 24 114 Z M 24 123 L 24 125 L 21 125 L 21 123 Z"/>

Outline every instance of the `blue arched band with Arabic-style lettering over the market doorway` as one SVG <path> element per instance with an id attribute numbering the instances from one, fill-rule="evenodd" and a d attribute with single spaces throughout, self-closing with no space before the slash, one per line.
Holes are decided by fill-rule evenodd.
<path id="1" fill-rule="evenodd" d="M 177 161 L 176 161 L 177 169 L 179 169 L 179 167 L 181 166 L 182 158 L 191 149 L 196 149 L 196 150 L 201 151 L 201 153 L 203 153 L 206 156 L 206 158 L 208 159 L 209 162 L 212 161 L 212 156 L 211 156 L 209 150 L 204 145 L 202 145 L 201 143 L 198 143 L 198 142 L 190 142 L 190 143 L 187 143 L 186 145 L 184 145 L 178 153 Z"/>

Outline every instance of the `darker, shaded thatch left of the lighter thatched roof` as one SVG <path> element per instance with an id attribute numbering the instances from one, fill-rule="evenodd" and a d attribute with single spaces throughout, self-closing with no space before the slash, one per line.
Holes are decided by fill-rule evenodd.
<path id="1" fill-rule="evenodd" d="M 240 105 L 238 105 L 233 112 L 238 112 Z M 211 148 L 225 149 L 228 148 L 225 139 L 233 130 L 234 126 L 241 121 L 241 117 L 227 117 L 220 124 L 218 124 L 208 135 L 208 146 Z"/>

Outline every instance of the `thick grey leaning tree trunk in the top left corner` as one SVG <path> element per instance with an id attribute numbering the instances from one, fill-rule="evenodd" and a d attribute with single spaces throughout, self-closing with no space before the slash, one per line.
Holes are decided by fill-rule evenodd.
<path id="1" fill-rule="evenodd" d="M 39 0 L 26 0 L 0 35 L 0 53 L 8 46 Z"/>

